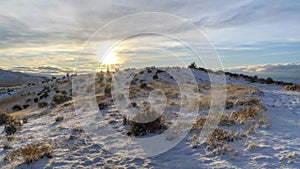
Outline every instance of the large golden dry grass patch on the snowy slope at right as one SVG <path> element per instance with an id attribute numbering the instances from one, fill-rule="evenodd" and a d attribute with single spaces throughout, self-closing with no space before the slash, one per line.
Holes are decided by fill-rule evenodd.
<path id="1" fill-rule="evenodd" d="M 205 89 L 209 90 L 209 87 L 202 85 L 199 88 L 199 98 L 201 99 L 199 105 L 200 111 L 207 110 L 210 107 L 211 97 L 209 94 L 206 94 L 207 91 L 205 91 Z M 204 144 L 206 150 L 214 154 L 236 152 L 231 148 L 230 142 L 240 140 L 249 134 L 253 134 L 255 128 L 267 123 L 264 113 L 266 109 L 260 103 L 260 100 L 255 97 L 255 95 L 261 95 L 262 92 L 256 88 L 239 85 L 228 85 L 226 86 L 226 90 L 227 100 L 224 103 L 226 111 L 220 117 L 219 128 L 212 132 Z M 217 118 L 218 114 L 213 116 L 216 116 Z M 191 137 L 191 143 L 194 148 L 200 146 L 200 143 L 198 142 L 199 135 L 207 118 L 208 116 L 201 116 L 193 125 L 192 132 L 194 133 Z M 244 125 L 247 125 L 247 127 L 244 129 L 241 128 L 239 132 L 229 129 L 229 127 L 242 127 Z"/>

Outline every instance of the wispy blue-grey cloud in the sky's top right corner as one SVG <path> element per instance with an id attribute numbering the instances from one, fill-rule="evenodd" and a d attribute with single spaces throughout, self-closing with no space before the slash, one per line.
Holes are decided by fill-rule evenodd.
<path id="1" fill-rule="evenodd" d="M 279 5 L 280 4 L 280 5 Z M 198 25 L 211 28 L 236 27 L 240 25 L 270 24 L 274 22 L 286 22 L 300 17 L 299 3 L 295 1 L 244 1 L 234 3 L 231 7 L 225 7 L 215 16 L 200 18 Z M 205 22 L 206 21 L 206 22 Z"/>

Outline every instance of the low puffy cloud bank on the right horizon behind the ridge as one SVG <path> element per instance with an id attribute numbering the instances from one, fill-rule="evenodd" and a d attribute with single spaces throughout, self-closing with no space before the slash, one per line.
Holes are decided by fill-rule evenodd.
<path id="1" fill-rule="evenodd" d="M 300 62 L 294 64 L 265 64 L 232 67 L 226 69 L 230 72 L 257 75 L 259 77 L 272 77 L 276 80 L 299 83 Z"/>

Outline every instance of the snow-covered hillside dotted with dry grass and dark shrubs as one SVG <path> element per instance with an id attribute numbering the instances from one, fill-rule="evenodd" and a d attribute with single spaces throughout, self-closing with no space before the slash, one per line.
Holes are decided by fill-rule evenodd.
<path id="1" fill-rule="evenodd" d="M 176 72 L 184 78 L 174 78 Z M 216 86 L 211 86 L 206 71 L 188 72 L 129 69 L 13 89 L 0 97 L 0 110 L 7 112 L 0 116 L 0 168 L 300 168 L 300 92 L 226 75 L 226 86 L 220 85 L 226 89 L 224 112 L 216 117 L 217 128 L 201 142 Z M 76 81 L 80 83 L 74 85 Z M 111 85 L 114 82 L 118 86 Z M 186 96 L 183 88 L 192 94 Z M 196 102 L 184 98 L 196 98 Z M 98 111 L 84 107 L 86 102 L 95 102 Z M 191 111 L 195 107 L 198 111 Z M 133 121 L 138 117 L 122 115 L 127 110 L 149 118 L 163 113 L 138 123 Z M 194 113 L 184 114 L 187 120 L 182 126 L 191 126 L 188 134 L 168 151 L 151 157 L 143 154 L 147 148 L 134 141 L 163 136 L 164 143 L 172 144 L 181 131 L 177 133 L 176 127 L 165 131 L 172 129 L 184 110 Z M 105 132 L 106 127 L 114 132 Z M 127 151 L 133 155 L 112 153 Z"/>

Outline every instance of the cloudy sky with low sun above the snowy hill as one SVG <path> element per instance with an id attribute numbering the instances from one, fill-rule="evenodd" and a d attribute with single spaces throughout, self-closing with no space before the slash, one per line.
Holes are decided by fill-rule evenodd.
<path id="1" fill-rule="evenodd" d="M 117 24 L 109 33 L 104 32 L 107 36 L 97 34 L 116 19 L 141 12 L 170 14 L 195 25 L 201 37 L 214 47 L 225 70 L 275 79 L 275 70 L 285 71 L 287 80 L 299 79 L 298 0 L 4 0 L 0 1 L 0 68 L 50 74 L 72 72 L 82 53 L 81 60 L 88 60 L 85 67 L 92 66 L 95 61 L 88 56 L 97 55 L 103 46 L 112 45 L 111 39 L 124 34 L 149 27 L 175 31 L 176 36 L 190 31 L 185 26 L 175 30 L 173 21 L 153 24 L 161 19 L 156 16 Z M 193 31 L 185 34 L 186 40 L 193 41 L 194 35 Z M 180 64 L 178 58 L 186 59 L 186 63 L 194 59 L 182 43 L 157 35 L 122 40 L 113 53 L 105 60 L 107 63 L 116 62 L 114 57 L 118 57 L 129 66 L 141 66 L 142 62 L 176 66 Z"/>

